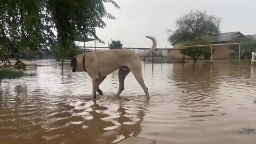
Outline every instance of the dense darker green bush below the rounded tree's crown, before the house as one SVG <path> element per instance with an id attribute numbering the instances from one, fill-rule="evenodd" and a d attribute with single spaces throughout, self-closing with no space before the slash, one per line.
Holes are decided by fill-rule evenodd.
<path id="1" fill-rule="evenodd" d="M 192 41 L 187 40 L 186 42 L 182 43 L 183 45 L 189 46 L 189 45 L 203 45 L 207 44 L 207 41 L 201 38 L 194 38 Z M 192 58 L 194 62 L 196 63 L 198 57 L 201 55 L 204 55 L 205 57 L 211 56 L 211 48 L 210 46 L 198 46 L 198 47 L 185 47 L 185 50 L 180 50 L 180 53 L 184 53 L 185 55 L 188 55 L 188 57 Z"/>

